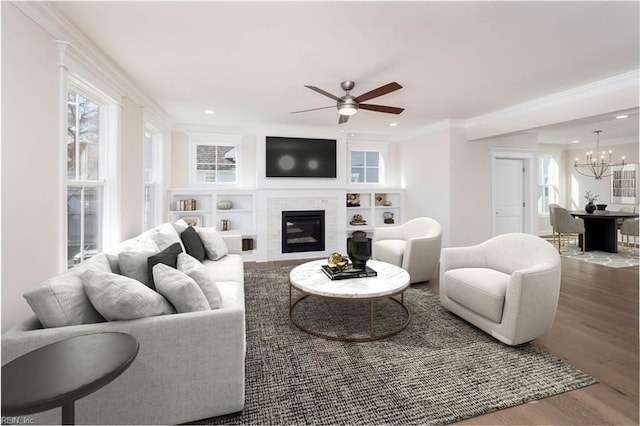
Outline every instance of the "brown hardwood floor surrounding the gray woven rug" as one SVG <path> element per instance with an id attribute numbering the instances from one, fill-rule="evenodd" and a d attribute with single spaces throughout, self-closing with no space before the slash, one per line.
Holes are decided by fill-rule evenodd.
<path id="1" fill-rule="evenodd" d="M 302 262 L 245 263 L 245 268 Z M 562 285 L 553 328 L 533 342 L 599 383 L 459 424 L 639 424 L 638 270 L 562 258 Z M 438 292 L 436 282 L 423 285 Z"/>

